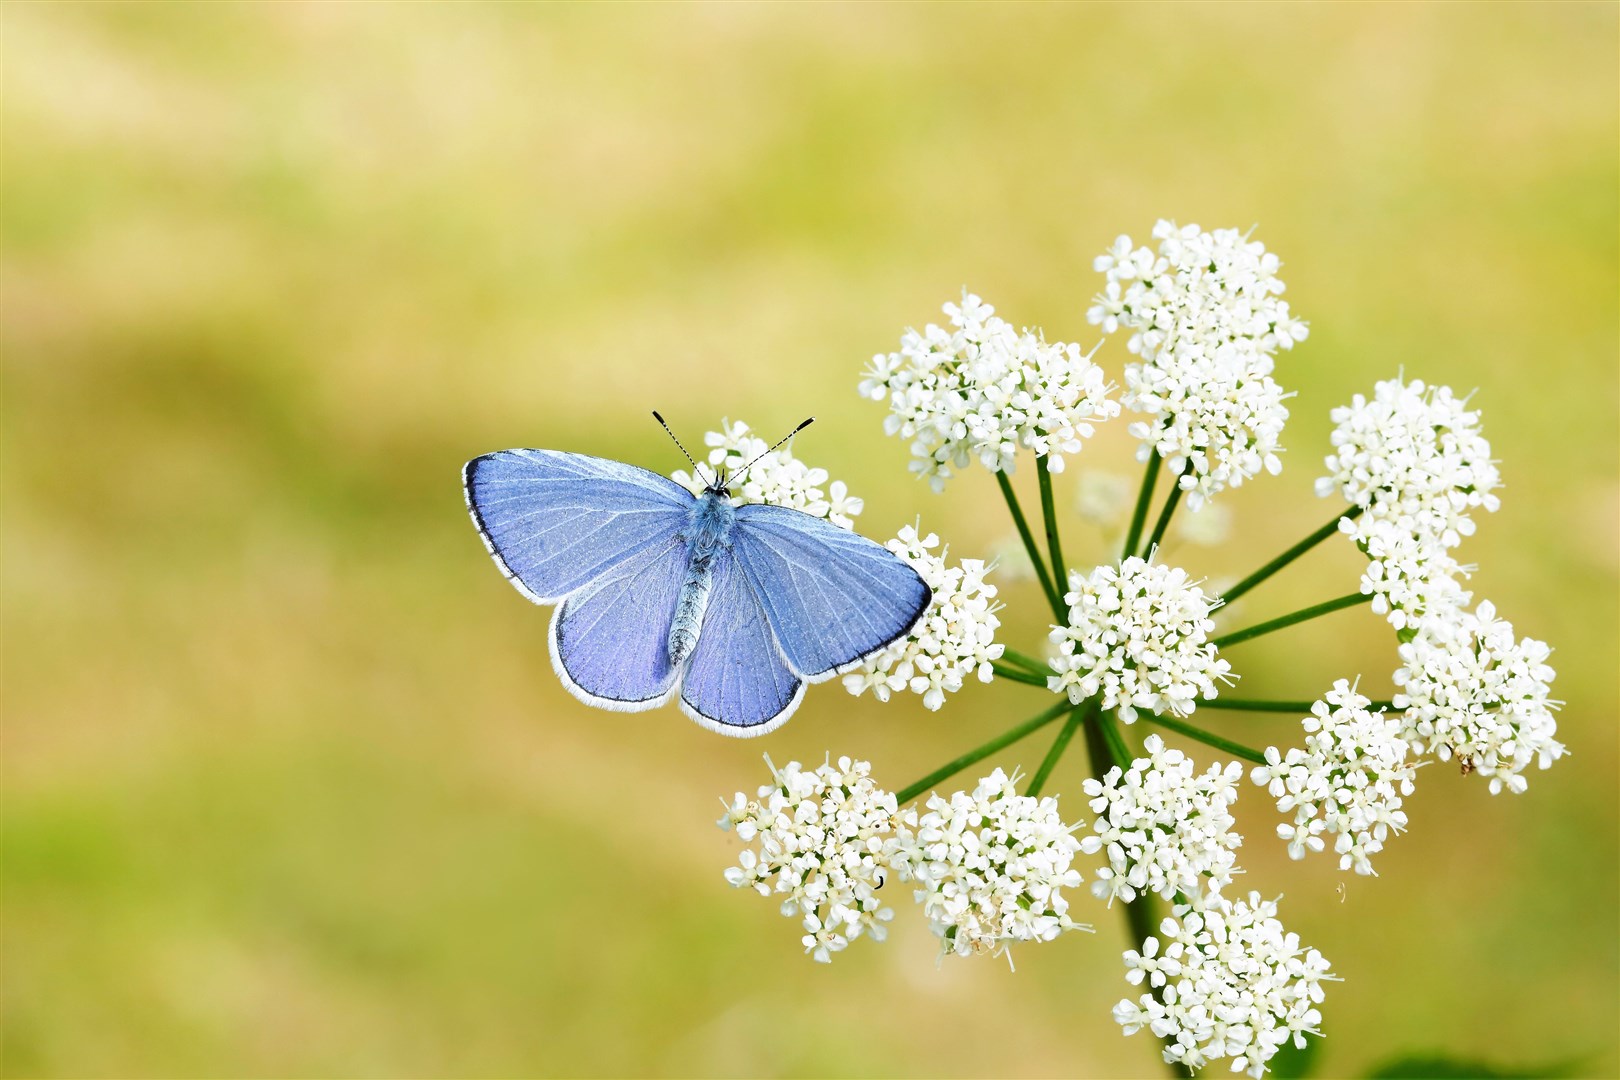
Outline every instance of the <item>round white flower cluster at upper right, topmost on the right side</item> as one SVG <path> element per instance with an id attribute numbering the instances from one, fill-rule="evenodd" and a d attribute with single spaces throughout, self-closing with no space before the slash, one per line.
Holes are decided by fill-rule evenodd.
<path id="1" fill-rule="evenodd" d="M 1335 408 L 1333 423 L 1333 453 L 1315 489 L 1362 507 L 1367 525 L 1390 521 L 1456 547 L 1474 531 L 1474 510 L 1500 505 L 1492 494 L 1500 474 L 1479 413 L 1452 387 L 1388 379 L 1372 398 L 1358 393 Z"/>

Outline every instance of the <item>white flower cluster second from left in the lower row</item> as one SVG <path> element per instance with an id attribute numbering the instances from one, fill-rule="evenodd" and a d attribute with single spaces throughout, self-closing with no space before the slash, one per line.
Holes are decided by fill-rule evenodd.
<path id="1" fill-rule="evenodd" d="M 1019 795 L 1016 782 L 996 769 L 970 793 L 930 797 L 896 852 L 946 954 L 1000 955 L 1017 941 L 1090 929 L 1069 918 L 1063 895 L 1081 884 L 1071 866 L 1079 826 L 1063 823 L 1058 800 Z"/>

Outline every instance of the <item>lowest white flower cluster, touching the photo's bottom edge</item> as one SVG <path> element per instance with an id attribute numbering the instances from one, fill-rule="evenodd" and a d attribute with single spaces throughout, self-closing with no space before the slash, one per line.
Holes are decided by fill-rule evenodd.
<path id="1" fill-rule="evenodd" d="M 1233 1072 L 1265 1075 L 1265 1062 L 1290 1041 L 1317 1035 L 1327 959 L 1283 931 L 1277 904 L 1251 892 L 1244 900 L 1212 897 L 1205 907 L 1176 905 L 1158 938 L 1124 954 L 1126 980 L 1158 988 L 1115 1006 L 1126 1035 L 1142 1028 L 1168 1041 L 1165 1061 L 1202 1069 L 1231 1059 Z"/>

